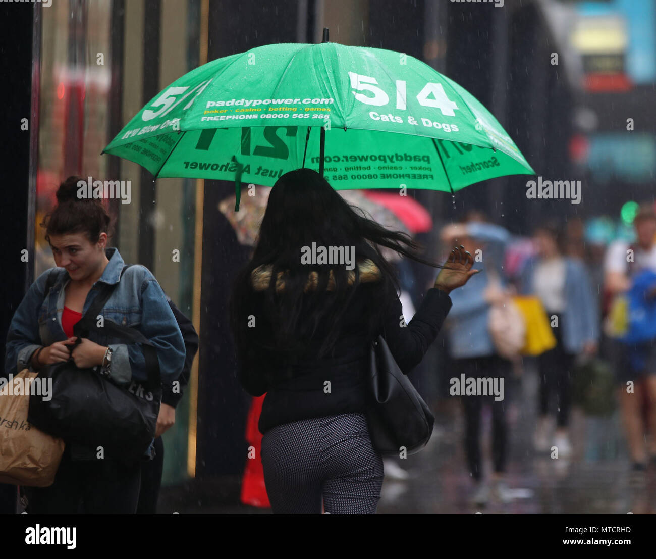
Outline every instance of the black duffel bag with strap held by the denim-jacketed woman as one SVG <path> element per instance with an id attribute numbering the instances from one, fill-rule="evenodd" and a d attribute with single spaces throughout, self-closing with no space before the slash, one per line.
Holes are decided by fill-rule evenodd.
<path id="1" fill-rule="evenodd" d="M 125 272 L 121 271 L 121 277 Z M 105 319 L 98 327 L 96 316 L 112 295 L 115 285 L 104 284 L 85 315 L 73 326 L 77 337 L 72 351 L 89 331 L 102 331 L 127 344 L 140 343 L 146 360 L 148 381 L 119 386 L 100 374 L 100 366 L 80 369 L 73 360 L 41 369 L 39 377 L 52 378 L 52 398 L 30 396 L 28 421 L 67 443 L 98 449 L 104 458 L 136 460 L 155 436 L 161 402 L 159 362 L 153 344 L 140 331 Z M 99 450 L 99 449 L 98 449 Z"/>

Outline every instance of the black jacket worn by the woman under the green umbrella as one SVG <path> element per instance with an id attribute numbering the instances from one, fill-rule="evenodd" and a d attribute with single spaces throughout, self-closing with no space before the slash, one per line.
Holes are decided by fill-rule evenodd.
<path id="1" fill-rule="evenodd" d="M 372 304 L 384 304 L 385 320 L 380 333 L 384 330 L 401 371 L 407 375 L 422 360 L 451 308 L 449 295 L 429 289 L 413 319 L 403 326 L 401 301 L 394 289 L 389 289 L 386 300 L 376 301 L 371 285 L 358 285 L 354 302 L 345 311 L 344 326 L 333 353 L 337 358 L 285 358 L 283 362 L 279 355 L 262 348 L 252 348 L 240 356 L 238 375 L 242 386 L 252 396 L 267 393 L 258 424 L 261 433 L 278 424 L 310 417 L 365 411 L 365 378 L 373 336 L 365 333 L 364 316 Z M 253 308 L 258 308 L 263 297 L 262 293 L 253 295 Z M 260 320 L 257 329 L 258 335 L 267 336 L 271 325 Z M 321 339 L 321 334 L 315 338 Z M 312 354 L 312 348 L 308 354 Z"/>

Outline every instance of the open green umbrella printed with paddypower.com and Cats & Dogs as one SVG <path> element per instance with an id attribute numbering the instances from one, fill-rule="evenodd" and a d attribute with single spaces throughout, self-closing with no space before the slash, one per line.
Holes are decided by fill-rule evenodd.
<path id="1" fill-rule="evenodd" d="M 327 42 L 203 64 L 157 94 L 103 153 L 155 176 L 235 180 L 236 210 L 241 182 L 273 186 L 299 167 L 337 190 L 456 192 L 535 175 L 497 119 L 448 77 L 400 52 Z"/>

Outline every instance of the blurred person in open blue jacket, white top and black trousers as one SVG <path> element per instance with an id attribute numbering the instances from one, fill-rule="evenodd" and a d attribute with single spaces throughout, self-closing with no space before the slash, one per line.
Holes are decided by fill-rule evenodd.
<path id="1" fill-rule="evenodd" d="M 520 273 L 520 293 L 537 295 L 550 321 L 556 347 L 538 358 L 539 419 L 535 447 L 551 447 L 550 396 L 556 395 L 558 413 L 553 444 L 559 457 L 571 455 L 567 434 L 571 407 L 571 374 L 577 354 L 593 355 L 599 339 L 599 308 L 584 263 L 564 254 L 562 230 L 554 224 L 535 230 L 537 256 Z"/>

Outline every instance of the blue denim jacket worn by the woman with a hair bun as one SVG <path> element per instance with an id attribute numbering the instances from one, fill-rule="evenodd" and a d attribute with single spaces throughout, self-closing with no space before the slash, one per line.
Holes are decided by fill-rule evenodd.
<path id="1" fill-rule="evenodd" d="M 155 276 L 145 266 L 131 266 L 119 282 L 125 262 L 115 248 L 106 249 L 109 259 L 100 279 L 91 287 L 84 302 L 83 313 L 87 312 L 96 296 L 99 283 L 115 284 L 118 287 L 102 309 L 105 320 L 134 327 L 140 331 L 157 350 L 159 371 L 163 384 L 172 383 L 184 366 L 186 350 L 178 323 Z M 47 278 L 56 269 L 56 279 L 48 297 L 44 299 Z M 32 354 L 40 346 L 49 346 L 66 340 L 62 328 L 65 288 L 70 276 L 64 268 L 46 270 L 30 285 L 16 309 L 9 326 L 5 350 L 5 376 L 14 375 L 30 367 Z M 139 344 L 115 343 L 109 335 L 91 331 L 89 339 L 102 346 L 112 348 L 110 377 L 117 384 L 127 386 L 131 381 L 146 381 L 146 363 Z M 78 452 L 84 458 L 85 453 Z M 91 455 L 89 456 L 91 457 Z"/>

